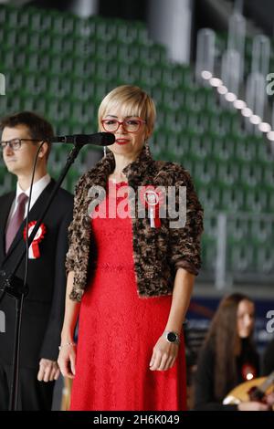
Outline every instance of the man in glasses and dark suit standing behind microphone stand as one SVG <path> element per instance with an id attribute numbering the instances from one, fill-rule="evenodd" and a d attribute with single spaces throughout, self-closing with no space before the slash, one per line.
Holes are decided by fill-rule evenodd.
<path id="1" fill-rule="evenodd" d="M 0 197 L 0 269 L 12 272 L 26 247 L 26 211 L 34 161 L 41 141 L 53 136 L 51 125 L 32 112 L 20 112 L 2 120 L 1 152 L 9 173 L 17 178 L 16 191 Z M 34 225 L 47 204 L 54 180 L 47 174 L 50 143 L 38 153 L 28 225 Z M 58 344 L 64 312 L 68 250 L 68 225 L 73 197 L 60 189 L 28 255 L 18 385 L 18 410 L 50 410 L 54 381 L 58 379 Z M 24 221 L 25 219 L 25 221 Z M 25 259 L 16 275 L 24 278 Z M 1 299 L 1 292 L 0 292 Z M 16 300 L 6 295 L 0 302 L 5 313 L 5 332 L 0 332 L 0 410 L 8 408 Z"/>

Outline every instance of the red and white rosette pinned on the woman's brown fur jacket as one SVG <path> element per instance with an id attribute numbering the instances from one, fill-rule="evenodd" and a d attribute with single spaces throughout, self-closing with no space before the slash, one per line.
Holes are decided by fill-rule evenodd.
<path id="1" fill-rule="evenodd" d="M 152 228 L 160 228 L 160 204 L 163 204 L 163 194 L 152 185 L 142 186 L 140 192 L 142 204 L 148 208 Z"/>

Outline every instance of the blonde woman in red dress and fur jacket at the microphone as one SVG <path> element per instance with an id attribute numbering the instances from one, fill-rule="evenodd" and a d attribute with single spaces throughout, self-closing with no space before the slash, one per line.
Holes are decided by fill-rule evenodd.
<path id="1" fill-rule="evenodd" d="M 182 326 L 203 211 L 183 167 L 153 161 L 154 120 L 153 100 L 137 87 L 113 89 L 100 105 L 100 130 L 116 140 L 79 180 L 69 227 L 58 363 L 74 379 L 70 410 L 186 408 Z M 161 218 L 163 186 L 186 186 L 184 225 L 171 227 L 170 212 Z M 176 195 L 176 208 L 181 202 Z M 133 213 L 140 207 L 144 216 Z"/>

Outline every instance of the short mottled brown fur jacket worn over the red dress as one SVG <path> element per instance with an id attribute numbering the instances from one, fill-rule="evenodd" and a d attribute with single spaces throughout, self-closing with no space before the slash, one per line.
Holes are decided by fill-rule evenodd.
<path id="1" fill-rule="evenodd" d="M 90 275 L 90 240 L 92 221 L 88 207 L 92 201 L 92 185 L 107 187 L 108 177 L 115 167 L 112 152 L 94 168 L 83 174 L 76 186 L 73 220 L 68 229 L 69 249 L 66 260 L 68 271 L 74 271 L 74 286 L 70 297 L 80 301 Z M 184 227 L 170 228 L 169 217 L 161 219 L 160 227 L 152 227 L 148 215 L 132 217 L 133 260 L 137 292 L 140 298 L 172 294 L 174 276 L 178 267 L 197 275 L 201 265 L 200 238 L 203 231 L 203 209 L 195 194 L 189 173 L 174 162 L 154 161 L 149 148 L 144 146 L 137 160 L 123 173 L 129 185 L 138 192 L 139 186 L 186 187 L 186 222 Z M 137 198 L 136 198 L 137 200 Z M 179 195 L 176 194 L 176 206 Z M 130 206 L 137 202 L 129 197 Z M 92 259 L 92 256 L 91 256 Z"/>

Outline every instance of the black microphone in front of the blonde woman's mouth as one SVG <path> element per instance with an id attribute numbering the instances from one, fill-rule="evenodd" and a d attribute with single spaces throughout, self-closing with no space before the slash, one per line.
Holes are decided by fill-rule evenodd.
<path id="1" fill-rule="evenodd" d="M 96 132 L 95 134 L 73 134 L 68 136 L 54 136 L 47 141 L 51 143 L 95 144 L 95 146 L 109 146 L 115 142 L 115 135 L 111 132 Z"/>

